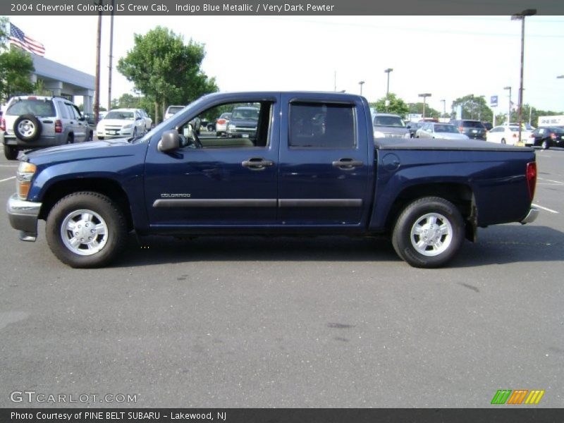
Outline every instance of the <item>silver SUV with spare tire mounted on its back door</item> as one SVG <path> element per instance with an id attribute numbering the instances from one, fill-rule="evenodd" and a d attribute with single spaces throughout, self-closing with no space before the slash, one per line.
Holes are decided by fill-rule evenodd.
<path id="1" fill-rule="evenodd" d="M 17 159 L 21 150 L 89 139 L 90 126 L 78 107 L 64 97 L 12 97 L 0 118 L 0 141 L 8 160 Z"/>

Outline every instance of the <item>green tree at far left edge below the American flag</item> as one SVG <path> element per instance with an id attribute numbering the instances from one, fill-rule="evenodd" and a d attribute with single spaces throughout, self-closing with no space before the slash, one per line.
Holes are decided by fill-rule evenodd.
<path id="1" fill-rule="evenodd" d="M 33 91 L 30 77 L 35 71 L 31 54 L 16 47 L 6 48 L 6 17 L 0 18 L 0 102 L 6 102 L 14 94 Z"/>

